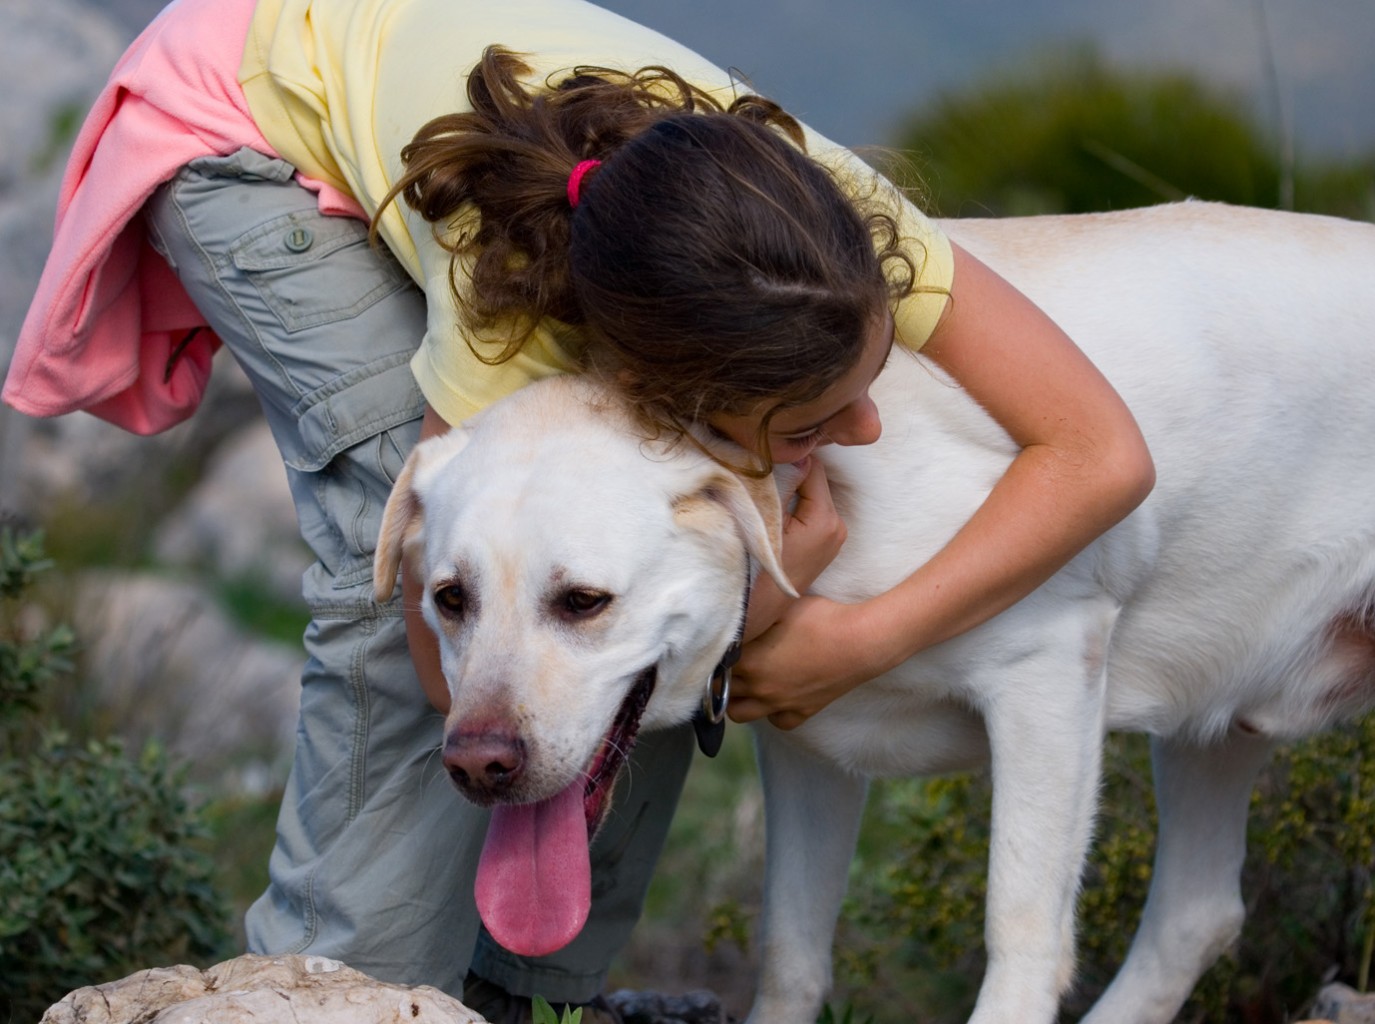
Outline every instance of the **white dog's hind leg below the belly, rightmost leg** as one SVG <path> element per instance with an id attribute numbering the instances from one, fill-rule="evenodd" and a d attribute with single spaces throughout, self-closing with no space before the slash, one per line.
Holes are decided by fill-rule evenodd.
<path id="1" fill-rule="evenodd" d="M 1159 837 L 1151 895 L 1122 970 L 1084 1024 L 1167 1024 L 1242 928 L 1242 862 L 1255 775 L 1275 744 L 1233 731 L 1154 739 Z"/>

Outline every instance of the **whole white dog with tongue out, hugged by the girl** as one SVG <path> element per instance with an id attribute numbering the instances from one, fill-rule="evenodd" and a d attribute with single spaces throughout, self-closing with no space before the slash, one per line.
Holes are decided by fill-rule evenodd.
<path id="1" fill-rule="evenodd" d="M 990 757 L 974 1021 L 1052 1021 L 1107 728 L 1152 735 L 1160 834 L 1130 955 L 1089 1020 L 1169 1021 L 1240 928 L 1266 753 L 1375 704 L 1375 227 L 1206 203 L 945 227 L 1121 390 L 1158 484 L 987 624 L 793 733 L 760 730 L 751 1021 L 813 1020 L 826 992 L 865 778 Z M 814 591 L 837 601 L 918 566 L 1013 455 L 920 356 L 891 359 L 874 397 L 881 441 L 822 449 L 848 540 Z M 778 524 L 771 485 L 645 443 L 615 399 L 572 378 L 417 449 L 388 507 L 378 591 L 422 543 L 452 694 L 446 763 L 473 799 L 517 805 L 494 825 L 495 854 L 539 833 L 562 858 L 492 869 L 490 888 L 547 896 L 586 871 L 576 848 L 619 752 L 637 727 L 696 713 L 736 636 L 748 559 L 780 576 Z M 483 889 L 491 918 L 521 911 Z"/>

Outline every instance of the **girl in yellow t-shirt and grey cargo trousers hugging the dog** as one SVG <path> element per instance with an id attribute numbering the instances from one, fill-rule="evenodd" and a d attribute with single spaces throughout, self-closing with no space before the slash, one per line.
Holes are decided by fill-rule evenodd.
<path id="1" fill-rule="evenodd" d="M 407 653 L 414 594 L 370 598 L 381 506 L 418 436 L 536 377 L 604 374 L 646 430 L 705 422 L 760 466 L 808 465 L 785 536 L 804 590 L 844 536 L 810 455 L 873 441 L 870 382 L 894 348 L 923 348 L 1022 454 L 888 594 L 842 606 L 758 588 L 730 713 L 785 728 L 1027 594 L 1152 480 L 1085 357 L 891 186 L 580 0 L 168 8 L 77 140 L 4 396 L 153 432 L 194 410 L 220 344 L 254 382 L 319 559 L 250 948 L 436 984 L 491 1020 L 528 1014 L 534 992 L 600 991 L 692 734 L 637 748 L 572 946 L 527 959 L 478 933 L 485 816 L 432 760 L 434 645 L 417 617 Z"/>

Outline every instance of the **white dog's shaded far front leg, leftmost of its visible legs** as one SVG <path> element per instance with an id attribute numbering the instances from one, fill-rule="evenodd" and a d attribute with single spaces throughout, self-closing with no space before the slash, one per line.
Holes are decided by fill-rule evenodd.
<path id="1" fill-rule="evenodd" d="M 755 733 L 764 788 L 762 964 L 747 1024 L 817 1019 L 868 783 L 770 726 Z"/>

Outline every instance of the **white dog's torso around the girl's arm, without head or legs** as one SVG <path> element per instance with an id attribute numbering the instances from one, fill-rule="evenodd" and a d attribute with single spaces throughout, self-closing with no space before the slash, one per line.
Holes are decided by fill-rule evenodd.
<path id="1" fill-rule="evenodd" d="M 954 664 L 898 676 L 939 697 L 942 667 L 1092 587 L 1122 609 L 1111 727 L 1299 735 L 1375 701 L 1375 227 L 1210 203 L 946 227 L 1121 390 L 1158 482 L 1044 594 L 956 641 Z M 894 356 L 877 400 L 883 438 L 825 452 L 850 540 L 818 591 L 840 599 L 920 565 L 1013 455 L 920 357 Z"/>

